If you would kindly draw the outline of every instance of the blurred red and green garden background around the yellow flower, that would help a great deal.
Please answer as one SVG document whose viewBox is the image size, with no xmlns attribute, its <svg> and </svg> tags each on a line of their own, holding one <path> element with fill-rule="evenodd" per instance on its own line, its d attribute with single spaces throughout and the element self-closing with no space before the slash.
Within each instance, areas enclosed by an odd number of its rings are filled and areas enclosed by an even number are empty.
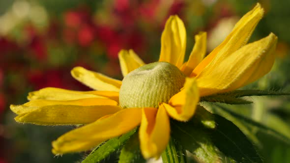
<svg viewBox="0 0 290 163">
<path fill-rule="evenodd" d="M 0 0 L 0 163 L 73 163 L 85 156 L 51 153 L 51 141 L 71 126 L 14 121 L 9 105 L 27 102 L 29 91 L 48 86 L 89 90 L 70 76 L 75 66 L 121 80 L 117 53 L 133 49 L 146 63 L 156 61 L 164 24 L 173 14 L 185 23 L 186 56 L 201 30 L 208 32 L 210 52 L 257 2 L 265 16 L 250 42 L 273 32 L 279 43 L 272 71 L 246 88 L 290 92 L 290 0 Z M 227 107 L 290 137 L 290 98 L 251 100 L 255 104 Z M 242 131 L 255 136 L 251 140 L 266 163 L 290 162 L 289 146 L 259 134 L 259 128 Z"/>
</svg>

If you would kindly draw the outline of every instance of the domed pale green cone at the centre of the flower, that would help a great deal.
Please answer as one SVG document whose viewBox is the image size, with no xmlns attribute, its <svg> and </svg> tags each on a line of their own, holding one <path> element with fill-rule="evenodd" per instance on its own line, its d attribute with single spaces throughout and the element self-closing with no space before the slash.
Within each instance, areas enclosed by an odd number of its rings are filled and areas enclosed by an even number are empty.
<svg viewBox="0 0 290 163">
<path fill-rule="evenodd" d="M 185 82 L 185 75 L 167 62 L 154 62 L 131 71 L 125 76 L 119 92 L 122 108 L 158 108 L 178 93 Z"/>
</svg>

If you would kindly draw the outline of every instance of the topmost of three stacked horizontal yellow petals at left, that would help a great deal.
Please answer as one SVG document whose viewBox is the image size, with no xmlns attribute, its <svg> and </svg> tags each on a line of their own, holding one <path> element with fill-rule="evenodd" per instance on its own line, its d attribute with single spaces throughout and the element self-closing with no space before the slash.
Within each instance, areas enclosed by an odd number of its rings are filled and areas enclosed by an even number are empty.
<svg viewBox="0 0 290 163">
<path fill-rule="evenodd" d="M 111 91 L 73 91 L 61 88 L 46 87 L 38 91 L 29 92 L 28 100 L 77 100 L 87 98 L 107 98 L 107 96 L 116 98 L 118 92 Z M 108 97 L 109 98 L 109 97 Z M 110 99 L 113 99 L 110 98 Z M 114 100 L 114 99 L 113 99 Z"/>
</svg>

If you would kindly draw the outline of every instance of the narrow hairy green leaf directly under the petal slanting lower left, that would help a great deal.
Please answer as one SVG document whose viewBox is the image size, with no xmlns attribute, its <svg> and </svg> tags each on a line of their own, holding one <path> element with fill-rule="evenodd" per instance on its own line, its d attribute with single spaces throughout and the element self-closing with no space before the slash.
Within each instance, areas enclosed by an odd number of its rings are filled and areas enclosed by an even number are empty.
<svg viewBox="0 0 290 163">
<path fill-rule="evenodd" d="M 111 153 L 119 149 L 134 133 L 136 129 L 115 138 L 111 138 L 103 145 L 96 147 L 82 163 L 99 163 Z"/>
</svg>

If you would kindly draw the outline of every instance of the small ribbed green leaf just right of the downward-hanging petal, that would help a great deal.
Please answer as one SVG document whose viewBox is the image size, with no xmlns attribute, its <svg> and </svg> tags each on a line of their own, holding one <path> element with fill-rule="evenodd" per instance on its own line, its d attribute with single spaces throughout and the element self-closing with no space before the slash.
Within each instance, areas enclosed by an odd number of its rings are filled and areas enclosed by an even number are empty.
<svg viewBox="0 0 290 163">
<path fill-rule="evenodd" d="M 182 146 L 173 138 L 170 139 L 161 157 L 163 163 L 185 163 Z"/>
</svg>

